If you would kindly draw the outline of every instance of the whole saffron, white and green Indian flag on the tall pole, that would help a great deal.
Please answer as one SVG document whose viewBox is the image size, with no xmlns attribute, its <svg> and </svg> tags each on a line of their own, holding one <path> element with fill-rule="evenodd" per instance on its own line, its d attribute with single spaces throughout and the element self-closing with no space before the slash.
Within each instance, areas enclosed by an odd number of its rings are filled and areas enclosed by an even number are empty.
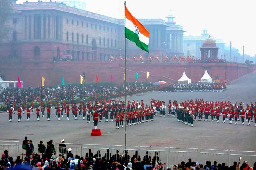
<svg viewBox="0 0 256 170">
<path fill-rule="evenodd" d="M 142 50 L 148 52 L 149 32 L 128 11 L 125 6 L 125 38 L 135 42 Z"/>
</svg>

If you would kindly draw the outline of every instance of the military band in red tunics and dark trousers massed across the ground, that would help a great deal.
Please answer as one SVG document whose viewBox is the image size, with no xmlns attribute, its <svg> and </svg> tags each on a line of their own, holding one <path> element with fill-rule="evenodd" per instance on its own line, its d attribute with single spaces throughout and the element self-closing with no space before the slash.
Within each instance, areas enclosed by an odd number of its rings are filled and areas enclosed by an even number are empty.
<svg viewBox="0 0 256 170">
<path fill-rule="evenodd" d="M 74 120 L 78 120 L 77 117 L 82 117 L 83 120 L 87 120 L 87 123 L 94 122 L 94 129 L 98 129 L 98 122 L 115 121 L 116 128 L 124 126 L 124 121 L 126 121 L 126 126 L 131 126 L 135 124 L 140 124 L 144 122 L 150 122 L 154 120 L 154 117 L 160 113 L 160 117 L 165 117 L 166 111 L 168 116 L 175 117 L 177 114 L 177 121 L 193 126 L 194 121 L 208 121 L 217 123 L 220 122 L 222 117 L 222 123 L 225 123 L 226 120 L 229 120 L 229 124 L 232 124 L 232 121 L 235 121 L 234 124 L 238 124 L 241 118 L 241 125 L 245 124 L 245 121 L 248 122 L 248 126 L 253 121 L 255 122 L 256 127 L 256 102 L 253 104 L 244 105 L 243 102 L 232 104 L 230 101 L 220 102 L 216 101 L 204 101 L 203 99 L 187 100 L 183 101 L 180 104 L 176 100 L 169 103 L 166 107 L 164 101 L 152 99 L 149 105 L 144 105 L 143 100 L 140 102 L 133 100 L 127 102 L 127 116 L 125 118 L 125 103 L 120 100 L 102 100 L 94 102 L 82 102 L 77 105 L 71 102 L 71 105 L 64 102 L 60 104 L 57 101 L 56 106 L 52 106 L 49 101 L 48 106 L 46 107 L 43 102 L 41 102 L 39 107 L 35 108 L 36 120 L 39 121 L 40 113 L 42 117 L 45 116 L 45 111 L 47 115 L 47 120 L 51 120 L 52 109 L 55 109 L 55 117 L 58 120 L 61 120 L 64 115 L 67 120 L 70 120 L 70 114 L 73 116 Z M 10 108 L 7 112 L 9 114 L 9 122 L 12 122 L 12 115 L 15 114 L 15 106 Z M 21 108 L 18 108 L 18 122 L 21 122 L 22 114 L 27 115 L 27 121 L 30 121 L 30 114 L 33 114 L 34 104 L 31 101 L 30 108 L 25 108 L 25 103 Z"/>
</svg>

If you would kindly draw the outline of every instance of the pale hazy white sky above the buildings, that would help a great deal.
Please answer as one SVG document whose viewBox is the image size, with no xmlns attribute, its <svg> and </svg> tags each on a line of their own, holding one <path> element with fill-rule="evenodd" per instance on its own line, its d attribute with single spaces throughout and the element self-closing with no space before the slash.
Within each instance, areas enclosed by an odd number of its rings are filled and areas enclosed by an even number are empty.
<svg viewBox="0 0 256 170">
<path fill-rule="evenodd" d="M 17 3 L 25 1 L 18 0 Z M 109 17 L 124 17 L 124 1 L 85 1 L 88 11 Z M 254 13 L 256 1 L 254 0 L 127 0 L 126 6 L 136 18 L 166 19 L 171 10 L 176 17 L 174 19 L 176 24 L 182 25 L 187 31 L 184 35 L 200 35 L 202 29 L 207 28 L 210 35 L 223 39 L 226 44 L 232 41 L 232 46 L 238 48 L 241 54 L 243 45 L 246 54 L 251 56 L 256 54 Z"/>
</svg>

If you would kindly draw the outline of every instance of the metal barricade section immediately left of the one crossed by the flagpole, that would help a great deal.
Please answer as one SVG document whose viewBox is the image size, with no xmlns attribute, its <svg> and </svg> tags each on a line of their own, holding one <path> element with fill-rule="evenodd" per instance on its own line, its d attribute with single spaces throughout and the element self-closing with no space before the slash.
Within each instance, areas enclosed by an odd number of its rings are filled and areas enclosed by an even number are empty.
<svg viewBox="0 0 256 170">
<path fill-rule="evenodd" d="M 111 157 L 110 145 L 83 144 L 83 157 L 86 160 L 105 157 L 108 161 Z"/>
</svg>

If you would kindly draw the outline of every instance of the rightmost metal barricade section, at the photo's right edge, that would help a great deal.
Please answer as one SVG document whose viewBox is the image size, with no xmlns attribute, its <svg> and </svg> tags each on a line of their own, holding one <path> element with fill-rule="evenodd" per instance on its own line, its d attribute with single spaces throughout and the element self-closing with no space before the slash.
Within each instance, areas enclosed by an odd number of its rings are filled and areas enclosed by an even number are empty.
<svg viewBox="0 0 256 170">
<path fill-rule="evenodd" d="M 234 161 L 238 162 L 239 157 L 242 157 L 242 161 L 247 161 L 250 167 L 256 162 L 255 151 L 229 151 L 229 155 L 229 165 L 233 165 Z"/>
</svg>

